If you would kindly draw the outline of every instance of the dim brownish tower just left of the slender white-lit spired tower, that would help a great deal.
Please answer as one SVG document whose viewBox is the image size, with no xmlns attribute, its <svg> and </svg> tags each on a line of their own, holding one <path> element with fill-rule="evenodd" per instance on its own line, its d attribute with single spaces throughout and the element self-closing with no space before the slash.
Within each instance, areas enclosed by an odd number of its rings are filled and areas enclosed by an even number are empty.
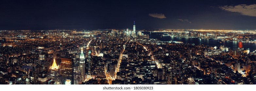
<svg viewBox="0 0 256 91">
<path fill-rule="evenodd" d="M 80 70 L 80 66 L 79 65 L 74 65 L 74 85 L 80 85 L 83 82 L 83 78 L 82 78 L 82 74 L 81 74 L 81 70 Z"/>
</svg>

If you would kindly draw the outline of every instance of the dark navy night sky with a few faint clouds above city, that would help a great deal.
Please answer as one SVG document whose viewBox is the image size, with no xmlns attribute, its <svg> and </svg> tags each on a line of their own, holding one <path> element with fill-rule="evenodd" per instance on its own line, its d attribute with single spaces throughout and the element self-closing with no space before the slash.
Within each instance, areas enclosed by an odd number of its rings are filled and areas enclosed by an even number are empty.
<svg viewBox="0 0 256 91">
<path fill-rule="evenodd" d="M 0 30 L 256 29 L 256 0 L 1 0 Z"/>
</svg>

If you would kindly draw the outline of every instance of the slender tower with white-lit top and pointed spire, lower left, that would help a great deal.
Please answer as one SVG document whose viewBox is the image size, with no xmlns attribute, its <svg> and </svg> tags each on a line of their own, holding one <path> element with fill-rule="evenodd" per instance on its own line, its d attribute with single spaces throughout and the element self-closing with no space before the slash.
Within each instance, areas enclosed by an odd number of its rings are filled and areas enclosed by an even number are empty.
<svg viewBox="0 0 256 91">
<path fill-rule="evenodd" d="M 81 48 L 81 54 L 79 57 L 79 69 L 81 70 L 82 78 L 83 81 L 85 80 L 85 60 L 84 60 L 84 53 L 83 53 L 83 48 Z"/>
</svg>

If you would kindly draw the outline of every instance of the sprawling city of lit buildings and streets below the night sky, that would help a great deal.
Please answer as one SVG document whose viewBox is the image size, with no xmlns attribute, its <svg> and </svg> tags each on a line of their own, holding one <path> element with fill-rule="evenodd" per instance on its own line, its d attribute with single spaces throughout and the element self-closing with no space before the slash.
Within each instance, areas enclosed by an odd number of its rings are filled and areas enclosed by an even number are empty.
<svg viewBox="0 0 256 91">
<path fill-rule="evenodd" d="M 1 84 L 256 83 L 254 31 L 135 31 L 0 31 Z"/>
</svg>

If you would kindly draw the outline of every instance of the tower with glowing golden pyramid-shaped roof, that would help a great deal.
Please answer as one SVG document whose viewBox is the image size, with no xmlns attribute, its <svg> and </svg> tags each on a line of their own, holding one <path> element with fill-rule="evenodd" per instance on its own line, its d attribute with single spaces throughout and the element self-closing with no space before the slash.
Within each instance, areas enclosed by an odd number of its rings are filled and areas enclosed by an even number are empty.
<svg viewBox="0 0 256 91">
<path fill-rule="evenodd" d="M 52 79 L 56 82 L 57 85 L 60 85 L 62 82 L 62 76 L 60 74 L 60 68 L 57 66 L 55 59 L 53 59 L 52 66 L 49 69 L 49 73 L 47 75 L 47 78 Z"/>
</svg>

